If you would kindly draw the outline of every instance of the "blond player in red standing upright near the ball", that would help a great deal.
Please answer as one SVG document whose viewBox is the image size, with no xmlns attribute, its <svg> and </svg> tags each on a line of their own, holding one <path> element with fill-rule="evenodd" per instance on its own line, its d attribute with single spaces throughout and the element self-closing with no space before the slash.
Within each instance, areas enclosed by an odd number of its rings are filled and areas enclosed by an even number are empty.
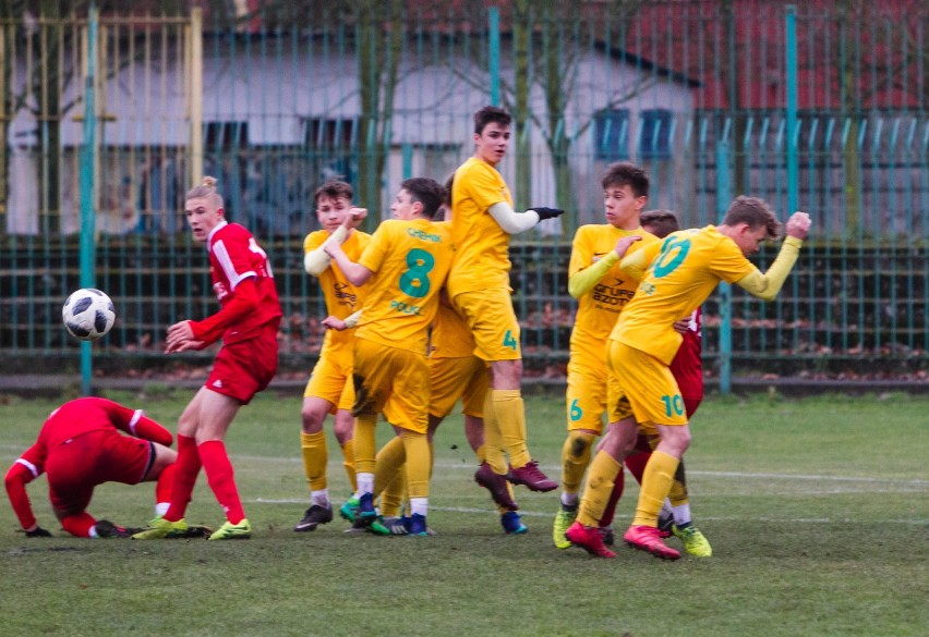
<svg viewBox="0 0 929 637">
<path fill-rule="evenodd" d="M 220 310 L 202 320 L 184 320 L 168 328 L 166 354 L 202 350 L 222 339 L 222 348 L 204 387 L 178 421 L 178 471 L 171 506 L 149 528 L 133 536 L 147 540 L 185 534 L 184 513 L 201 467 L 227 522 L 210 540 L 249 538 L 232 464 L 226 453 L 226 431 L 252 397 L 277 372 L 277 329 L 280 302 L 265 252 L 238 223 L 229 223 L 216 180 L 190 191 L 184 206 L 194 240 L 209 249 L 209 274 Z"/>
</svg>

